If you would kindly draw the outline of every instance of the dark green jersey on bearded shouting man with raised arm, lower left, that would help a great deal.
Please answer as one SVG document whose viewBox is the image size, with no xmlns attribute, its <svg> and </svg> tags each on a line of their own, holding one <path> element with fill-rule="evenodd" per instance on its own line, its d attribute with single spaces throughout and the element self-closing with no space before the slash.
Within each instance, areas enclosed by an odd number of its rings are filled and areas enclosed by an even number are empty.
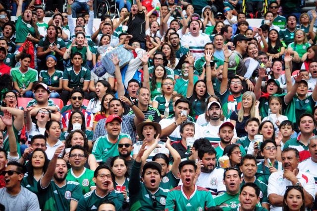
<svg viewBox="0 0 317 211">
<path fill-rule="evenodd" d="M 41 180 L 40 180 L 41 181 Z M 40 208 L 43 211 L 69 211 L 70 201 L 83 196 L 78 182 L 67 181 L 61 188 L 52 180 L 48 187 L 44 188 L 38 183 Z"/>
</svg>

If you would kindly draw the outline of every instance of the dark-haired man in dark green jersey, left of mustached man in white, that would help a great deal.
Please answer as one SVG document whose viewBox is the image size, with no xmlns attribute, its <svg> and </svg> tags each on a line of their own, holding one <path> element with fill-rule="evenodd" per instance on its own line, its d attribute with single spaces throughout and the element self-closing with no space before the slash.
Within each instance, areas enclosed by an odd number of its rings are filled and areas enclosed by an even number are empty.
<svg viewBox="0 0 317 211">
<path fill-rule="evenodd" d="M 243 185 L 246 183 L 256 184 L 260 188 L 260 203 L 262 207 L 269 210 L 269 203 L 267 200 L 267 185 L 261 180 L 257 179 L 257 177 L 255 176 L 257 173 L 257 169 L 257 160 L 253 155 L 246 154 L 244 157 L 242 157 L 240 171 L 242 172 L 243 176 L 242 183 L 240 186 L 243 187 Z"/>
</svg>

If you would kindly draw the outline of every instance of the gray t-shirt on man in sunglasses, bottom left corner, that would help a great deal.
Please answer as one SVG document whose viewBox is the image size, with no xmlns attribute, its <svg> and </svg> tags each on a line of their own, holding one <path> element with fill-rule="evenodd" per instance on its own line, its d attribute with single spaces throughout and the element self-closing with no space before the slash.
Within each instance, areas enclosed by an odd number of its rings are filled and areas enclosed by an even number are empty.
<svg viewBox="0 0 317 211">
<path fill-rule="evenodd" d="M 6 192 L 6 188 L 0 189 L 0 203 L 5 211 L 39 211 L 40 205 L 37 196 L 21 186 L 18 195 L 12 196 Z"/>
</svg>

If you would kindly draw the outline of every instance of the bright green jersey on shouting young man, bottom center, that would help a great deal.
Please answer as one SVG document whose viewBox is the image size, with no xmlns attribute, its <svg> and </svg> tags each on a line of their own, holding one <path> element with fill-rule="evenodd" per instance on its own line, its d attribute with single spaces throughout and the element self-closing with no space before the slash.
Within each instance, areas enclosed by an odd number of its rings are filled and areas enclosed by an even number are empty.
<svg viewBox="0 0 317 211">
<path fill-rule="evenodd" d="M 168 192 L 165 211 L 204 211 L 214 205 L 207 189 L 195 185 L 192 195 L 187 196 L 179 185 Z"/>
</svg>

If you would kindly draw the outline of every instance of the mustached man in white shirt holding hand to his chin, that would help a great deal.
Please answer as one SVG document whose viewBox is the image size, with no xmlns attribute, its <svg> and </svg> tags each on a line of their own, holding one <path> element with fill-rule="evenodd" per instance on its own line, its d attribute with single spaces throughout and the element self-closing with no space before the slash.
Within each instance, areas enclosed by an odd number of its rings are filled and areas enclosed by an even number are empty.
<svg viewBox="0 0 317 211">
<path fill-rule="evenodd" d="M 268 178 L 267 199 L 270 211 L 282 211 L 284 194 L 287 186 L 300 186 L 304 191 L 305 207 L 311 208 L 315 200 L 315 180 L 298 169 L 299 152 L 295 148 L 282 151 L 282 171 L 273 172 Z"/>
</svg>

